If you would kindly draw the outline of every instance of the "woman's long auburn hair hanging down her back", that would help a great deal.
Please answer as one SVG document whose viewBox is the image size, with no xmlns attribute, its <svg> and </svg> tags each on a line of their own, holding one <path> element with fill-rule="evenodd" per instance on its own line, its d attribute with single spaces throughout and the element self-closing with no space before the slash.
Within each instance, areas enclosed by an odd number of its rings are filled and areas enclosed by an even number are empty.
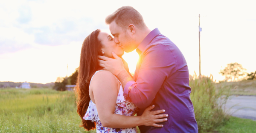
<svg viewBox="0 0 256 133">
<path fill-rule="evenodd" d="M 84 39 L 81 48 L 81 57 L 79 65 L 79 74 L 77 77 L 75 92 L 76 92 L 76 104 L 77 113 L 82 119 L 82 125 L 87 130 L 95 129 L 96 124 L 90 120 L 83 119 L 90 102 L 89 85 L 93 74 L 101 69 L 99 66 L 98 55 L 102 55 L 101 47 L 102 43 L 98 39 L 100 30 L 97 29 L 90 33 Z"/>
</svg>

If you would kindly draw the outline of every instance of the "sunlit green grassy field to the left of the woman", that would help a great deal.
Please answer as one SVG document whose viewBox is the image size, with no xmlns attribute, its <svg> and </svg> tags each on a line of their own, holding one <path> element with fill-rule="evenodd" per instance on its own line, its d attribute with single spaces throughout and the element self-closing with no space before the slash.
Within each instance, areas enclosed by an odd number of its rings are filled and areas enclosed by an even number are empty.
<svg viewBox="0 0 256 133">
<path fill-rule="evenodd" d="M 73 92 L 0 89 L 0 133 L 94 133 L 80 122 Z"/>
</svg>

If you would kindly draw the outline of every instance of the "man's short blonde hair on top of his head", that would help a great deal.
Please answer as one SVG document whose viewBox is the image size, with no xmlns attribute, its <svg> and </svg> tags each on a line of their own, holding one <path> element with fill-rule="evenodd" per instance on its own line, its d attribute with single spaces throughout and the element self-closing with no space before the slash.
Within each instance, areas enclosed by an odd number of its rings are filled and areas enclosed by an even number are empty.
<svg viewBox="0 0 256 133">
<path fill-rule="evenodd" d="M 122 28 L 126 28 L 130 24 L 136 25 L 138 28 L 146 26 L 141 14 L 131 6 L 122 6 L 117 9 L 113 14 L 106 17 L 105 22 L 109 25 L 114 20 Z"/>
</svg>

